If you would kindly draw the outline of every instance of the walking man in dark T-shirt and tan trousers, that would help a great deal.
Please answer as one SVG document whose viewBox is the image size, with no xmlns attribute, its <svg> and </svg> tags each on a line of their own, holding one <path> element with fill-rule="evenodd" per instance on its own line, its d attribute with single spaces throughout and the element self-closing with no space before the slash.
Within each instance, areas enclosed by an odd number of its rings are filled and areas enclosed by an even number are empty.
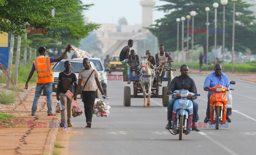
<svg viewBox="0 0 256 155">
<path fill-rule="evenodd" d="M 57 100 L 60 100 L 60 103 L 65 107 L 64 110 L 61 111 L 61 123 L 60 127 L 65 126 L 66 123 L 66 111 L 67 111 L 67 122 L 68 127 L 72 127 L 71 124 L 71 104 L 72 100 L 67 97 L 66 93 L 70 91 L 73 92 L 73 84 L 76 90 L 77 86 L 77 78 L 74 72 L 70 70 L 71 63 L 69 61 L 64 62 L 65 70 L 60 72 L 59 78 L 58 78 L 58 86 L 56 91 Z M 67 109 L 67 110 L 66 110 Z"/>
</svg>

